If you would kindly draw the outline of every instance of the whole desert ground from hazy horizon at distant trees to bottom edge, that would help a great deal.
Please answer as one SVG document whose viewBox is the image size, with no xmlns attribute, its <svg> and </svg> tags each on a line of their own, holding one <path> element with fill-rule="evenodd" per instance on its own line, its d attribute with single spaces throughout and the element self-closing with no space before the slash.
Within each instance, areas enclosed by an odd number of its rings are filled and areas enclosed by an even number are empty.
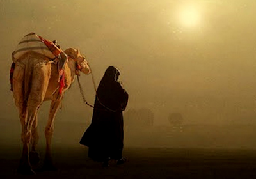
<svg viewBox="0 0 256 179">
<path fill-rule="evenodd" d="M 111 161 L 109 168 L 103 168 L 78 143 L 86 126 L 57 122 L 52 155 L 58 170 L 24 176 L 16 171 L 21 155 L 19 123 L 1 121 L 1 178 L 256 178 L 253 126 L 126 128 L 127 162 L 116 166 Z M 44 159 L 43 127 L 39 129 L 38 152 Z"/>
</svg>

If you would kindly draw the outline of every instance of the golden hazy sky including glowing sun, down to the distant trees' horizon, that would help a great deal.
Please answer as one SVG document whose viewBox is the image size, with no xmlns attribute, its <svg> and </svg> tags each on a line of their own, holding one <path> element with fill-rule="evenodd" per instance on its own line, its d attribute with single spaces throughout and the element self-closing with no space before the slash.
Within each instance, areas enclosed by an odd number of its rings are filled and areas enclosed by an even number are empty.
<svg viewBox="0 0 256 179">
<path fill-rule="evenodd" d="M 33 31 L 63 49 L 79 47 L 97 83 L 109 65 L 120 68 L 127 109 L 152 109 L 156 124 L 169 113 L 187 123 L 256 121 L 255 0 L 1 0 L 0 26 L 2 118 L 18 118 L 11 54 Z M 81 80 L 93 102 L 90 75 Z M 84 121 L 91 112 L 75 82 L 58 117 Z"/>
</svg>

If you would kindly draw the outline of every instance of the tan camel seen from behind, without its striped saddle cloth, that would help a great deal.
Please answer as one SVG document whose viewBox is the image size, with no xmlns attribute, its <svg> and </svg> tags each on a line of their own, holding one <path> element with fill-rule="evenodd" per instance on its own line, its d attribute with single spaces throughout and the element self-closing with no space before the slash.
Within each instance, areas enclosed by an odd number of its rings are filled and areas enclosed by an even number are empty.
<svg viewBox="0 0 256 179">
<path fill-rule="evenodd" d="M 54 118 L 60 106 L 63 94 L 74 82 L 77 68 L 84 74 L 90 74 L 90 66 L 79 49 L 68 48 L 65 51 L 67 61 L 63 65 L 65 85 L 62 92 L 60 88 L 60 74 L 58 63 L 35 51 L 27 51 L 15 60 L 13 71 L 13 98 L 19 110 L 22 125 L 22 156 L 18 172 L 31 175 L 35 174 L 33 166 L 39 163 L 36 152 L 38 143 L 38 110 L 44 101 L 51 100 L 49 118 L 45 127 L 46 152 L 43 169 L 56 169 L 52 164 L 51 141 L 54 132 Z M 64 53 L 63 53 L 64 54 Z"/>
</svg>

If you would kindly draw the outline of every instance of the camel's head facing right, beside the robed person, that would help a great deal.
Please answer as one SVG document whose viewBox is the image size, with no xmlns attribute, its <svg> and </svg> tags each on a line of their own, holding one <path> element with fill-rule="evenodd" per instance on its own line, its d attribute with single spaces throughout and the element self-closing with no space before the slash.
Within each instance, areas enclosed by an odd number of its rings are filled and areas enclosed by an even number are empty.
<svg viewBox="0 0 256 179">
<path fill-rule="evenodd" d="M 68 48 L 65 51 L 65 54 L 67 54 L 68 59 L 74 60 L 77 64 L 78 69 L 84 74 L 90 74 L 90 66 L 88 65 L 88 62 L 86 61 L 85 56 L 80 54 L 79 49 L 74 48 Z"/>
</svg>

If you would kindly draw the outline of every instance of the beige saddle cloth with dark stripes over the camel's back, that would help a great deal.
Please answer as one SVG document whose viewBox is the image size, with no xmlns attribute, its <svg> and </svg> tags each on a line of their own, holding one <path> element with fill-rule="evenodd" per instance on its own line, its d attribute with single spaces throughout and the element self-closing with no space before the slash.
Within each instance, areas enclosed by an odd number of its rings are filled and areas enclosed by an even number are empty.
<svg viewBox="0 0 256 179">
<path fill-rule="evenodd" d="M 46 40 L 35 33 L 29 33 L 20 40 L 17 48 L 13 51 L 13 62 L 15 63 L 17 59 L 28 51 L 44 54 L 50 59 L 55 59 L 61 53 L 61 49 L 54 42 Z"/>
</svg>

